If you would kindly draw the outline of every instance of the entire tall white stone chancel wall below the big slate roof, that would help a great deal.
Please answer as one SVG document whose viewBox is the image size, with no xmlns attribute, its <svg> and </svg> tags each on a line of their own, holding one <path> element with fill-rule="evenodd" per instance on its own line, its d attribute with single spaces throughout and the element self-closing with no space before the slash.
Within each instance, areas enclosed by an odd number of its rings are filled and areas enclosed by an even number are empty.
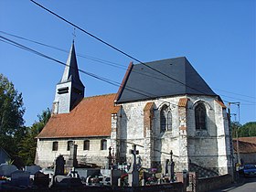
<svg viewBox="0 0 256 192">
<path fill-rule="evenodd" d="M 178 101 L 184 97 L 188 99 L 185 110 L 187 113 L 181 117 Z M 222 109 L 215 100 L 217 97 L 210 96 L 180 96 L 155 100 L 152 156 L 146 145 L 148 138 L 144 138 L 144 106 L 151 101 L 123 103 L 120 133 L 121 138 L 127 140 L 127 144 L 124 144 L 127 161 L 131 160 L 129 149 L 132 144 L 137 144 L 144 167 L 148 167 L 149 158 L 165 165 L 165 159 L 170 158 L 169 154 L 172 150 L 176 171 L 188 169 L 188 161 L 191 160 L 192 163 L 217 171 L 219 174 L 226 174 L 229 166 L 229 126 L 225 109 Z M 206 106 L 208 116 L 206 131 L 196 130 L 194 110 L 198 101 Z M 160 133 L 160 111 L 164 104 L 168 105 L 172 112 L 172 129 Z M 185 127 L 184 130 L 180 129 L 182 126 Z"/>
</svg>

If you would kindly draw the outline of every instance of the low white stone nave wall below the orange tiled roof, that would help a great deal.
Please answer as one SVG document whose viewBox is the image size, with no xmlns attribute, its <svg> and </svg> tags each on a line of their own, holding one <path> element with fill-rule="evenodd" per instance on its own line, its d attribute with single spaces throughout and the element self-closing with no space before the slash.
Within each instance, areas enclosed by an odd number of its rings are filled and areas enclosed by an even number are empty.
<svg viewBox="0 0 256 192">
<path fill-rule="evenodd" d="M 101 150 L 101 139 L 107 140 L 107 150 Z M 90 150 L 83 150 L 84 140 L 90 140 Z M 69 151 L 67 150 L 68 141 L 73 141 L 78 145 L 79 163 L 90 163 L 100 166 L 106 164 L 109 155 L 108 148 L 112 145 L 110 138 L 67 138 L 67 139 L 37 139 L 37 155 L 35 163 L 42 167 L 53 165 L 57 156 L 63 155 L 65 160 L 68 159 Z M 58 151 L 52 151 L 53 142 L 59 142 Z"/>
</svg>

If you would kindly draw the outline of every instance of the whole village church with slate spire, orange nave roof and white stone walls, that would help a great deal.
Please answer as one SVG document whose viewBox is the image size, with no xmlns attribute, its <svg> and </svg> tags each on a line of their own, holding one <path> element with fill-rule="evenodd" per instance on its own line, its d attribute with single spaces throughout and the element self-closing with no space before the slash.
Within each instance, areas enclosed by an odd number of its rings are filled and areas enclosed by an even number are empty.
<svg viewBox="0 0 256 192">
<path fill-rule="evenodd" d="M 84 97 L 74 43 L 56 86 L 52 116 L 37 135 L 35 164 L 53 165 L 77 144 L 79 164 L 131 162 L 136 144 L 145 168 L 165 169 L 170 152 L 175 171 L 232 172 L 226 106 L 187 58 L 130 63 L 117 93 Z"/>
</svg>

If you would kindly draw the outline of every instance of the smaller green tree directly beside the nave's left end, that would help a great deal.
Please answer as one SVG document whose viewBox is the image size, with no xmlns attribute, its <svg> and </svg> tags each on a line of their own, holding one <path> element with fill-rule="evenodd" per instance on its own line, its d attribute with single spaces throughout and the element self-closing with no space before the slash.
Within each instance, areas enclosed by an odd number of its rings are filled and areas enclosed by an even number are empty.
<svg viewBox="0 0 256 192">
<path fill-rule="evenodd" d="M 25 165 L 33 165 L 35 161 L 36 149 L 37 149 L 37 134 L 42 131 L 48 119 L 50 118 L 51 112 L 49 109 L 43 111 L 42 114 L 37 115 L 38 122 L 34 123 L 31 128 L 27 130 L 27 135 L 18 144 L 19 153 L 18 155 L 22 158 Z"/>
</svg>

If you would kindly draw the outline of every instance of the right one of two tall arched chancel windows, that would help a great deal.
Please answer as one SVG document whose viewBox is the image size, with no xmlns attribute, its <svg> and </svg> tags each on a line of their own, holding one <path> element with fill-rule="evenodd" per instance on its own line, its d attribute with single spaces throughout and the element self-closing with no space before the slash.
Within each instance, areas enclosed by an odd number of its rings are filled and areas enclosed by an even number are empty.
<svg viewBox="0 0 256 192">
<path fill-rule="evenodd" d="M 198 103 L 195 108 L 196 129 L 207 129 L 207 111 L 203 103 Z"/>
</svg>

